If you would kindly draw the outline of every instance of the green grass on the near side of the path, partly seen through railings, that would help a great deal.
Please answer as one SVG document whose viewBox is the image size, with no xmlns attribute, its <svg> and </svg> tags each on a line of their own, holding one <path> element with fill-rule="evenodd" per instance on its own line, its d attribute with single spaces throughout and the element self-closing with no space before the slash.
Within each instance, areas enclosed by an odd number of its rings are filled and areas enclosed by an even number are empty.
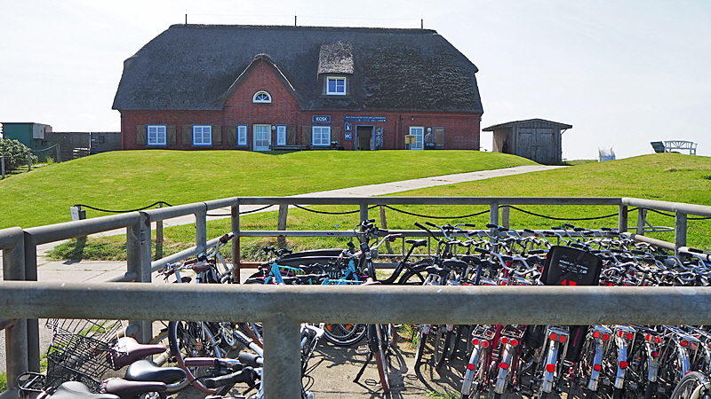
<svg viewBox="0 0 711 399">
<path fill-rule="evenodd" d="M 635 197 L 650 200 L 667 200 L 699 205 L 711 205 L 711 158 L 683 154 L 651 154 L 624 160 L 583 163 L 570 168 L 561 168 L 543 172 L 531 172 L 525 175 L 505 176 L 469 183 L 421 189 L 411 192 L 399 192 L 393 196 L 480 196 L 480 197 Z M 310 207 L 329 212 L 354 211 L 355 207 L 319 206 Z M 414 222 L 423 223 L 475 223 L 484 227 L 489 215 L 455 218 L 457 215 L 470 215 L 488 210 L 488 206 L 479 207 L 435 207 L 403 206 L 401 210 L 419 215 L 445 217 L 427 219 L 405 215 L 387 210 L 387 227 L 393 230 L 412 230 Z M 565 207 L 565 206 L 522 206 L 524 211 L 555 217 L 550 219 L 528 215 L 511 210 L 511 227 L 516 229 L 550 229 L 554 225 L 572 223 L 586 228 L 617 227 L 617 207 Z M 591 217 L 611 215 L 596 220 L 581 220 Z M 371 211 L 371 217 L 379 219 L 377 209 Z M 560 219 L 560 220 L 558 220 Z M 650 213 L 648 219 L 656 226 L 674 226 L 674 217 Z M 634 224 L 636 214 L 630 213 L 629 221 Z M 322 215 L 306 210 L 292 209 L 287 220 L 290 230 L 346 230 L 358 223 L 358 214 Z M 378 220 L 378 223 L 381 222 Z M 244 230 L 276 230 L 276 212 L 244 215 L 241 217 Z M 208 223 L 208 237 L 218 237 L 229 231 L 229 221 L 220 220 Z M 673 233 L 661 232 L 649 234 L 651 237 L 673 241 Z M 165 231 L 166 254 L 191 246 L 195 239 L 193 226 L 178 226 Z M 124 238 L 102 239 L 121 245 Z M 189 245 L 188 245 L 189 243 Z M 711 250 L 711 221 L 689 220 L 688 243 L 702 249 Z M 243 239 L 243 254 L 249 258 L 259 258 L 259 249 L 264 245 L 274 245 L 274 239 Z M 296 249 L 327 246 L 345 246 L 345 239 L 290 239 L 290 245 Z M 122 251 L 116 251 L 121 256 Z"/>
</svg>

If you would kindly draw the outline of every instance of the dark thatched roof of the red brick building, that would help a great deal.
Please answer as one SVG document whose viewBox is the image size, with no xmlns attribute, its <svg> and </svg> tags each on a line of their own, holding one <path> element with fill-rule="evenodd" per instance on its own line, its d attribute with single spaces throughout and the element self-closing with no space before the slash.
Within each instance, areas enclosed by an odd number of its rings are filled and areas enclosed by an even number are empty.
<svg viewBox="0 0 711 399">
<path fill-rule="evenodd" d="M 124 61 L 113 109 L 221 110 L 258 55 L 304 111 L 483 113 L 476 66 L 435 30 L 245 25 L 168 28 Z M 349 63 L 349 95 L 324 96 L 319 68 Z"/>
</svg>

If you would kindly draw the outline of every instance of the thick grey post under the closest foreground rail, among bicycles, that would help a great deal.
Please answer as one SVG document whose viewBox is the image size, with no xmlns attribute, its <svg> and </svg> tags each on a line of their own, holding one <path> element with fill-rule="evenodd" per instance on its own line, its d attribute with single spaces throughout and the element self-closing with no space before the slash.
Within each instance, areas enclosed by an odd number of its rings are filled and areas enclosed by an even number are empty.
<svg viewBox="0 0 711 399">
<path fill-rule="evenodd" d="M 300 323 L 284 313 L 264 321 L 264 396 L 301 397 Z"/>
</svg>

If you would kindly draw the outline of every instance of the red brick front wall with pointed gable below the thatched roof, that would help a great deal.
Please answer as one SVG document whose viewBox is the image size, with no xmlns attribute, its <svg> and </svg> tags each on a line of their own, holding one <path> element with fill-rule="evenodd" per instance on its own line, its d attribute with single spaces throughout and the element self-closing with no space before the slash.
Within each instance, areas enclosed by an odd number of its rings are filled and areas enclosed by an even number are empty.
<svg viewBox="0 0 711 399">
<path fill-rule="evenodd" d="M 270 104 L 255 104 L 255 93 L 267 91 L 272 98 Z M 313 123 L 314 115 L 328 115 L 330 123 Z M 385 121 L 353 121 L 351 139 L 346 139 L 346 116 L 380 117 Z M 332 127 L 332 141 L 338 141 L 346 150 L 355 150 L 357 146 L 356 129 L 358 126 L 371 127 L 383 131 L 383 147 L 387 150 L 406 149 L 404 136 L 411 126 L 444 129 L 444 149 L 478 150 L 480 133 L 480 114 L 468 113 L 410 113 L 410 112 L 301 112 L 299 103 L 293 97 L 291 89 L 273 66 L 264 60 L 258 60 L 241 78 L 235 91 L 227 99 L 222 111 L 121 111 L 122 148 L 124 150 L 146 148 L 170 148 L 176 150 L 226 150 L 252 149 L 252 125 L 287 125 L 295 130 L 296 144 L 310 145 L 308 132 L 312 125 Z M 175 145 L 148 146 L 137 143 L 137 127 L 147 124 L 174 126 L 178 135 Z M 212 124 L 221 126 L 220 145 L 195 146 L 185 145 L 180 140 L 184 125 Z M 228 129 L 236 125 L 248 125 L 246 146 L 236 145 Z M 304 130 L 306 128 L 306 130 Z M 305 134 L 303 134 L 305 133 Z M 272 131 L 272 144 L 276 144 L 275 132 Z"/>
</svg>

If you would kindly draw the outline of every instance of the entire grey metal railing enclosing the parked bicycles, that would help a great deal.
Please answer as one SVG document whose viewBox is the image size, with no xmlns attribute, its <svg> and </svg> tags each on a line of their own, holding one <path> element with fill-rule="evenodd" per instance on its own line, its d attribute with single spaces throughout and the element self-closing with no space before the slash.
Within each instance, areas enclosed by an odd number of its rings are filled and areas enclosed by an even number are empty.
<svg viewBox="0 0 711 399">
<path fill-rule="evenodd" d="M 590 287 L 286 287 L 136 285 L 112 283 L 75 285 L 36 282 L 36 249 L 44 243 L 84 237 L 101 231 L 126 229 L 126 272 L 120 282 L 149 282 L 152 271 L 203 252 L 217 239 L 207 240 L 207 212 L 229 207 L 235 233 L 233 260 L 239 263 L 241 237 L 278 235 L 334 235 L 342 231 L 242 231 L 240 207 L 248 205 L 354 205 L 360 219 L 368 219 L 372 205 L 486 205 L 490 222 L 499 224 L 505 205 L 605 205 L 618 207 L 619 231 L 627 231 L 628 207 L 674 212 L 675 242 L 655 244 L 679 250 L 686 246 L 687 215 L 711 217 L 711 207 L 631 198 L 231 198 L 178 207 L 164 207 L 124 215 L 103 216 L 22 230 L 0 230 L 4 279 L 0 290 L 0 319 L 17 319 L 6 329 L 7 376 L 13 388 L 21 372 L 38 371 L 37 317 L 106 317 L 132 320 L 244 320 L 265 325 L 265 393 L 270 398 L 298 397 L 300 389 L 299 325 L 328 323 L 446 323 L 446 324 L 562 324 L 598 323 L 711 324 L 711 293 L 704 288 Z M 281 207 L 284 208 L 284 207 Z M 196 245 L 179 254 L 151 262 L 151 223 L 193 215 Z M 637 229 L 644 227 L 638 218 Z M 352 234 L 352 232 L 350 232 Z M 27 280 L 9 281 L 9 280 Z M 33 282 L 35 281 L 35 282 Z M 411 288 L 411 287 L 408 287 Z M 334 290 L 339 291 L 334 295 Z M 37 295 L 41 292 L 41 295 Z M 653 301 L 650 299 L 653 297 Z M 146 303 L 160 303 L 147 307 Z M 288 314 L 284 303 L 289 303 Z M 358 307 L 352 306 L 358 303 Z M 387 303 L 388 306 L 381 306 Z M 545 303 L 531 309 L 531 303 Z M 120 304 L 120 305 L 116 305 Z M 624 304 L 624 306 L 620 306 Z M 413 310 L 417 309 L 417 310 Z M 151 322 L 140 326 L 137 338 L 151 338 Z M 10 395 L 10 394 L 9 394 Z"/>
</svg>

